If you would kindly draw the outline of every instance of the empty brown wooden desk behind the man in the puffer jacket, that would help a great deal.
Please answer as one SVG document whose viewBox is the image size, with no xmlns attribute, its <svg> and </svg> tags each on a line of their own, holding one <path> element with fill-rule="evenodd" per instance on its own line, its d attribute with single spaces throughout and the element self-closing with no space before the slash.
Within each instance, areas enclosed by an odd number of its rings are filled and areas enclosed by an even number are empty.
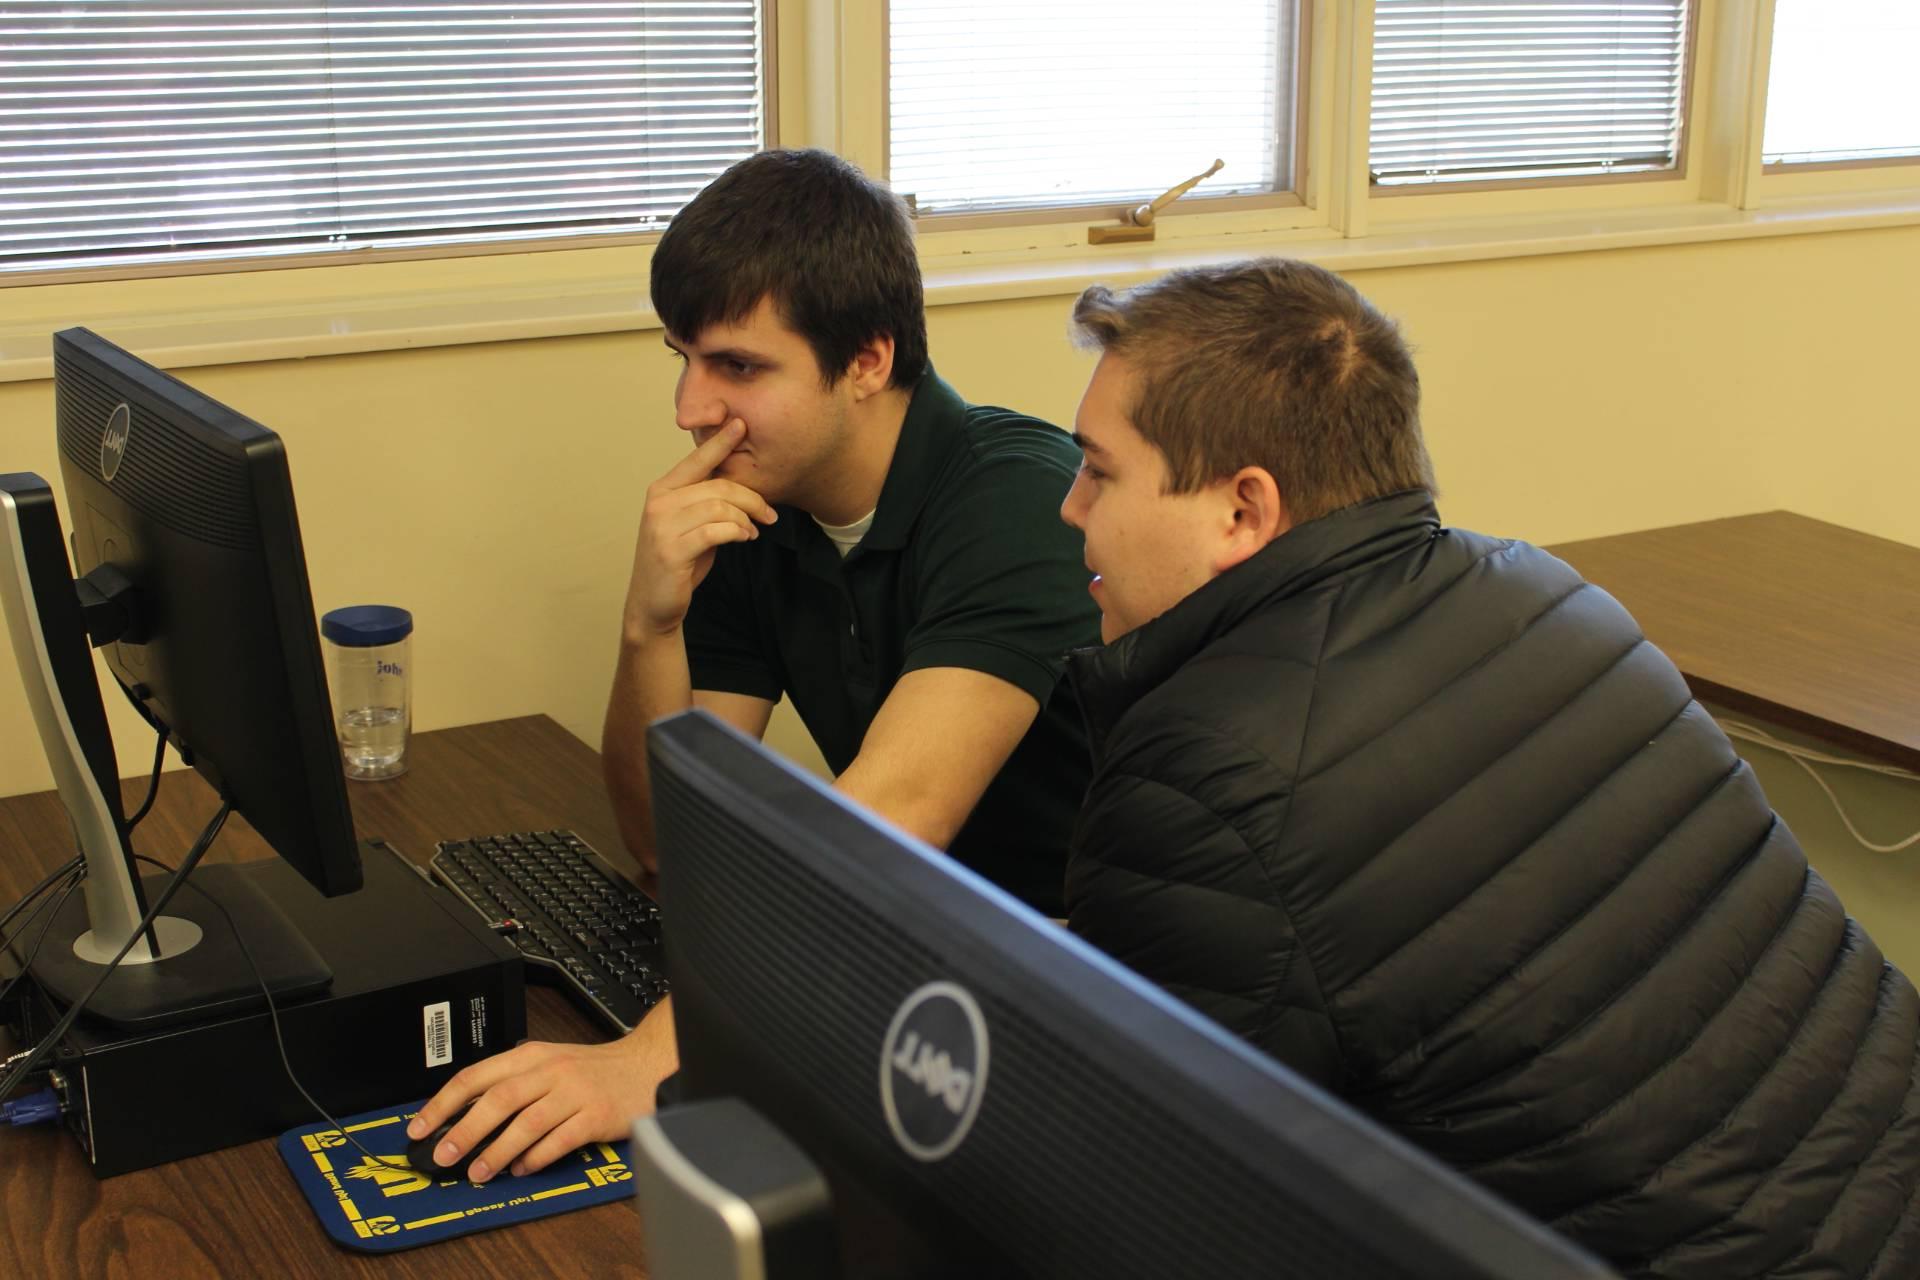
<svg viewBox="0 0 1920 1280">
<path fill-rule="evenodd" d="M 1695 697 L 1920 770 L 1920 549 L 1770 510 L 1548 551 Z"/>
</svg>

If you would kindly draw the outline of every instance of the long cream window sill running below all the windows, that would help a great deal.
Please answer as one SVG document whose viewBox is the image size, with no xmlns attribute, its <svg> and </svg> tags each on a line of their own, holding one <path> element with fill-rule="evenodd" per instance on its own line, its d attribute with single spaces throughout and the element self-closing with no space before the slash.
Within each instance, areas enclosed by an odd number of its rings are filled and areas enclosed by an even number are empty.
<svg viewBox="0 0 1920 1280">
<path fill-rule="evenodd" d="M 1331 271 L 1357 273 L 1910 225 L 1920 225 L 1916 188 L 1797 196 L 1753 211 L 1690 203 L 1586 215 L 1450 217 L 1379 226 L 1379 234 L 1361 240 L 1344 240 L 1327 228 L 1183 236 L 1177 219 L 1167 219 L 1162 225 L 1165 238 L 1156 244 L 948 251 L 927 257 L 924 269 L 927 305 L 943 307 L 1073 296 L 1092 282 L 1137 284 L 1177 267 L 1258 253 L 1286 253 Z M 0 290 L 0 303 L 13 303 L 6 307 L 12 315 L 0 320 L 0 382 L 50 378 L 50 334 L 67 324 L 100 328 L 167 368 L 657 328 L 643 263 L 634 249 L 589 253 L 620 257 L 605 259 L 611 267 L 605 271 L 582 271 L 580 263 L 591 259 L 572 259 L 564 271 L 543 278 L 549 273 L 541 271 L 541 259 L 561 255 L 516 255 L 522 269 L 511 282 L 449 278 L 444 269 L 438 282 L 426 284 L 394 273 L 384 276 L 384 292 L 378 273 L 388 265 L 380 263 L 317 269 L 323 276 L 300 273 L 301 280 L 326 280 L 311 288 L 296 282 L 294 273 L 286 273 L 284 282 L 273 280 L 278 273 L 204 276 L 204 286 L 196 286 L 194 301 L 184 307 L 179 303 L 179 280 L 165 282 L 175 286 L 173 294 L 159 292 L 156 286 L 161 282 L 152 280 L 17 286 Z M 253 284 L 246 290 L 221 284 L 240 278 Z M 609 278 L 620 282 L 609 286 Z M 399 282 L 405 284 L 396 288 Z M 83 296 L 65 294 L 88 290 L 98 297 L 102 288 L 113 290 L 113 301 L 98 315 L 81 301 Z"/>
</svg>

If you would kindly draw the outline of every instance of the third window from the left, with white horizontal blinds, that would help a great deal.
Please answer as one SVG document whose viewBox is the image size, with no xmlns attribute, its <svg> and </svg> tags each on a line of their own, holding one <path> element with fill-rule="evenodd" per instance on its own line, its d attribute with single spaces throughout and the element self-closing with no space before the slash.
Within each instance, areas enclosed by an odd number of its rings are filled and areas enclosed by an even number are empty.
<svg viewBox="0 0 1920 1280">
<path fill-rule="evenodd" d="M 1379 0 L 1371 180 L 1674 169 L 1688 0 Z"/>
</svg>

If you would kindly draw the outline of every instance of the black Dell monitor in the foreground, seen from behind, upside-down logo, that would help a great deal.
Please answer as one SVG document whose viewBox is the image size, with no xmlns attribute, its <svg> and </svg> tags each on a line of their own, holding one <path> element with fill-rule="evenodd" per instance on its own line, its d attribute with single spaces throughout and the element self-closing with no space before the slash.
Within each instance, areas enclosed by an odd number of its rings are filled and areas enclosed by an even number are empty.
<svg viewBox="0 0 1920 1280">
<path fill-rule="evenodd" d="M 718 720 L 647 754 L 684 1092 L 820 1165 L 847 1274 L 1611 1274 Z"/>
</svg>

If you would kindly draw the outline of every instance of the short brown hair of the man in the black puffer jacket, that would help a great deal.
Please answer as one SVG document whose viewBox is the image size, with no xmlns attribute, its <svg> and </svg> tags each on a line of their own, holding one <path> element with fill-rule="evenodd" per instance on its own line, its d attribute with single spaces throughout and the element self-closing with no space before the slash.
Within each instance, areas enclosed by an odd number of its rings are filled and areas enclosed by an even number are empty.
<svg viewBox="0 0 1920 1280">
<path fill-rule="evenodd" d="M 1413 355 L 1331 271 L 1263 257 L 1121 294 L 1094 284 L 1073 326 L 1139 370 L 1127 416 L 1167 459 L 1171 493 L 1263 466 L 1300 524 L 1434 489 Z"/>
</svg>

